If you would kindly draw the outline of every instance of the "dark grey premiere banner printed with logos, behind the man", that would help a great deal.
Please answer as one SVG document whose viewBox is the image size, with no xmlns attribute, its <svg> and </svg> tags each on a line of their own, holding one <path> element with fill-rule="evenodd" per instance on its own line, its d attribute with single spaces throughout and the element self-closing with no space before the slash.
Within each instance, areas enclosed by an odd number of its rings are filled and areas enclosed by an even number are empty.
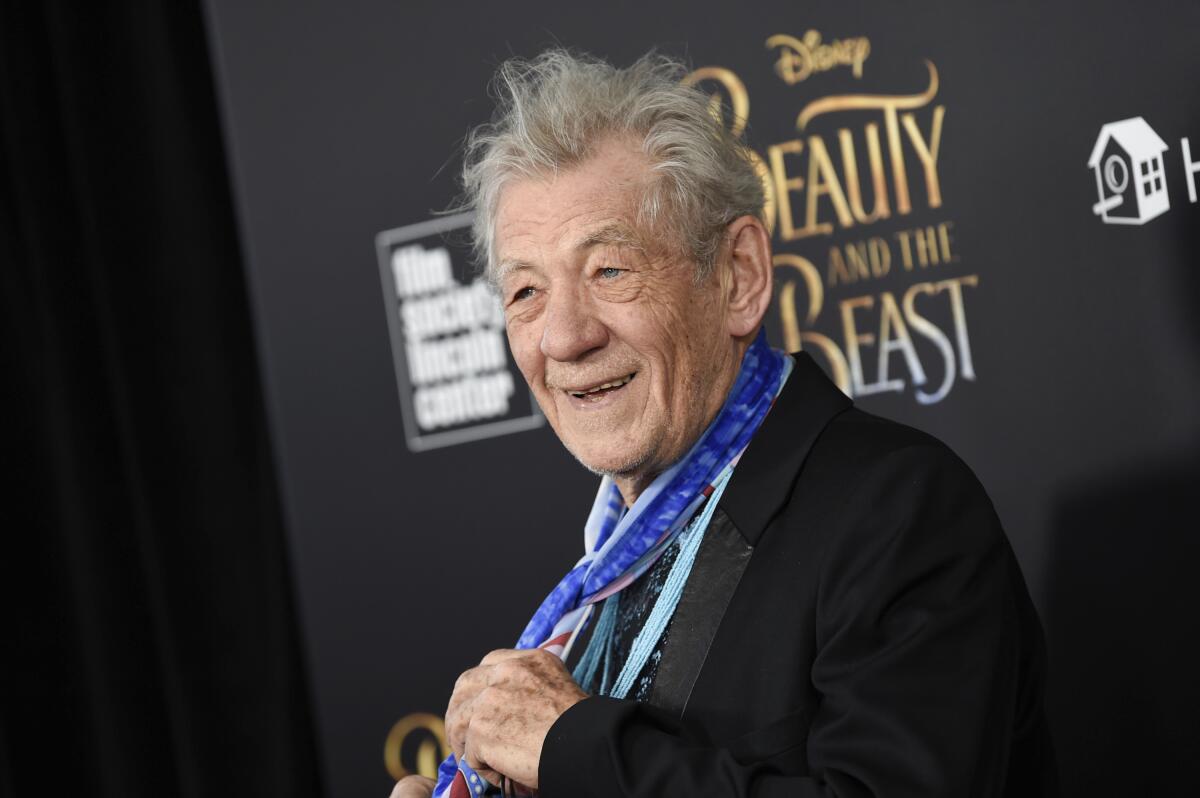
<svg viewBox="0 0 1200 798">
<path fill-rule="evenodd" d="M 1200 6 L 210 0 L 328 792 L 445 752 L 457 674 L 581 553 L 595 490 L 454 205 L 504 58 L 650 48 L 743 132 L 773 342 L 941 437 L 1042 613 L 1067 794 L 1200 746 Z"/>
</svg>

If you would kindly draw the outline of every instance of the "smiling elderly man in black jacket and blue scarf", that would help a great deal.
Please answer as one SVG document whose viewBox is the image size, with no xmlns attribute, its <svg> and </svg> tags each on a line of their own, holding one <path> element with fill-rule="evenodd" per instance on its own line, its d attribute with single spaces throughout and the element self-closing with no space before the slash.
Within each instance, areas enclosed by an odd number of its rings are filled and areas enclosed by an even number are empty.
<svg viewBox="0 0 1200 798">
<path fill-rule="evenodd" d="M 511 61 L 468 142 L 512 354 L 604 479 L 584 557 L 455 685 L 437 785 L 392 794 L 1051 794 L 1040 630 L 990 502 L 766 343 L 762 185 L 683 74 Z"/>
</svg>

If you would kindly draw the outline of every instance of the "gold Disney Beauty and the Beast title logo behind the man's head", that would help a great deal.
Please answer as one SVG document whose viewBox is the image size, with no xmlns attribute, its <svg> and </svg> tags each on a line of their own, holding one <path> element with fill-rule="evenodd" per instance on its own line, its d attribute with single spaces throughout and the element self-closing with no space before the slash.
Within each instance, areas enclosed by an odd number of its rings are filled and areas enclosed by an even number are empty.
<svg viewBox="0 0 1200 798">
<path fill-rule="evenodd" d="M 940 212 L 946 106 L 937 67 L 925 60 L 924 85 L 911 94 L 814 97 L 817 73 L 845 67 L 869 79 L 870 41 L 824 44 L 810 30 L 773 35 L 766 49 L 775 74 L 798 91 L 794 115 L 785 114 L 790 130 L 750 151 L 776 244 L 768 324 L 790 350 L 828 364 L 851 396 L 911 391 L 922 404 L 940 402 L 958 379 L 976 379 L 967 305 L 979 276 L 961 274 L 954 222 Z M 686 82 L 712 89 L 713 112 L 727 106 L 722 124 L 743 132 L 750 94 L 738 74 L 706 66 Z M 756 130 L 760 139 L 767 132 Z"/>
</svg>

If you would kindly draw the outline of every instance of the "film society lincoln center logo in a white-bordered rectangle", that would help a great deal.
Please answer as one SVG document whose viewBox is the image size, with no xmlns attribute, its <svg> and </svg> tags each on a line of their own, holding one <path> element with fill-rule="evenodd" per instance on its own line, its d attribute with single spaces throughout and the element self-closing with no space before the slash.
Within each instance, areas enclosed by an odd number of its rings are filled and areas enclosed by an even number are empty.
<svg viewBox="0 0 1200 798">
<path fill-rule="evenodd" d="M 458 214 L 376 236 L 404 438 L 424 451 L 541 426 Z"/>
</svg>

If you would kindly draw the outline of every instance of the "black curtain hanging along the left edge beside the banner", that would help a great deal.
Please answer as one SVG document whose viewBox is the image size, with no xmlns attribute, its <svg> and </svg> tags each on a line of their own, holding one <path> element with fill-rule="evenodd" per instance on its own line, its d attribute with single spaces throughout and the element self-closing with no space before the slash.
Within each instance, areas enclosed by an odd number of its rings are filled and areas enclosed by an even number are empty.
<svg viewBox="0 0 1200 798">
<path fill-rule="evenodd" d="M 319 794 L 199 4 L 0 5 L 0 793 Z"/>
</svg>

